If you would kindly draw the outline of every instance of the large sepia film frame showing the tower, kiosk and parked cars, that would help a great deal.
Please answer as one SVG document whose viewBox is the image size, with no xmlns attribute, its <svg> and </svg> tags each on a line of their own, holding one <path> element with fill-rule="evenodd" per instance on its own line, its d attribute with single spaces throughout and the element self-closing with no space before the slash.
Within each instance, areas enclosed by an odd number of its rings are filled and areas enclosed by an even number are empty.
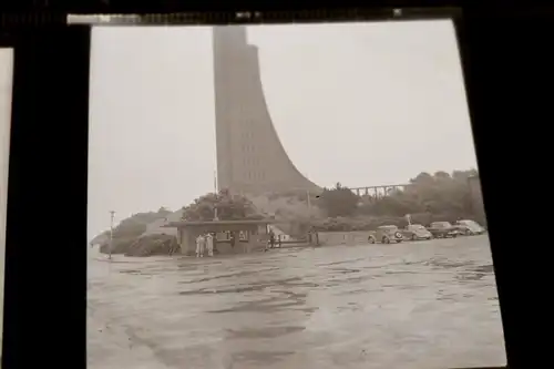
<svg viewBox="0 0 554 369">
<path fill-rule="evenodd" d="M 505 362 L 456 12 L 418 12 L 71 17 L 89 368 Z"/>
</svg>

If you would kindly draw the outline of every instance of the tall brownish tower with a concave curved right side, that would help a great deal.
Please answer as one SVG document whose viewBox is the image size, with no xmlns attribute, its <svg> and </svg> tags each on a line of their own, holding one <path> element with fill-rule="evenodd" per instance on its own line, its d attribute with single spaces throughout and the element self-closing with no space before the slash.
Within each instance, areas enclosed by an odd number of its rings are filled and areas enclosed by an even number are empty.
<svg viewBox="0 0 554 369">
<path fill-rule="evenodd" d="M 218 187 L 246 194 L 319 191 L 279 141 L 246 28 L 216 27 L 213 42 Z"/>
</svg>

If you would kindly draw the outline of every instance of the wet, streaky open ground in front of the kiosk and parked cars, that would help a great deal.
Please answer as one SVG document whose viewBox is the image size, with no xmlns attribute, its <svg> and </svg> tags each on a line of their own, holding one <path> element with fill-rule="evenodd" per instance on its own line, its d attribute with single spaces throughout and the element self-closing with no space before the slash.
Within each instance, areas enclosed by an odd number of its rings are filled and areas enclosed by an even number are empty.
<svg viewBox="0 0 554 369">
<path fill-rule="evenodd" d="M 89 368 L 505 363 L 486 236 L 89 262 Z"/>
</svg>

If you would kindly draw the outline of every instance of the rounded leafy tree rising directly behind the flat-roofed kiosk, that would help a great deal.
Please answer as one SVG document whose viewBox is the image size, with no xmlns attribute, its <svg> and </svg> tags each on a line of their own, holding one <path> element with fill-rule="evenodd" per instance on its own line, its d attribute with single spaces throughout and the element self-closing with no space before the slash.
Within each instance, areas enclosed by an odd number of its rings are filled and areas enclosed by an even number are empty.
<svg viewBox="0 0 554 369">
<path fill-rule="evenodd" d="M 216 208 L 219 221 L 260 219 L 264 217 L 245 196 L 230 195 L 228 192 L 222 191 L 218 194 L 211 193 L 198 197 L 188 206 L 183 207 L 183 219 L 213 221 Z"/>
</svg>

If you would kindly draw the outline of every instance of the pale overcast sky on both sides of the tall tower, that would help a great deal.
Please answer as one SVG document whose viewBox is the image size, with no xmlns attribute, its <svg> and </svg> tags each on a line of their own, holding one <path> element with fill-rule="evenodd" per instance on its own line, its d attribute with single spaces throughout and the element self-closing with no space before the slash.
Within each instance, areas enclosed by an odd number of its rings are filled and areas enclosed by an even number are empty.
<svg viewBox="0 0 554 369">
<path fill-rule="evenodd" d="M 89 236 L 213 191 L 212 30 L 94 28 Z M 275 127 L 320 186 L 476 167 L 450 21 L 248 27 Z M 195 173 L 194 177 L 187 173 Z"/>
</svg>

